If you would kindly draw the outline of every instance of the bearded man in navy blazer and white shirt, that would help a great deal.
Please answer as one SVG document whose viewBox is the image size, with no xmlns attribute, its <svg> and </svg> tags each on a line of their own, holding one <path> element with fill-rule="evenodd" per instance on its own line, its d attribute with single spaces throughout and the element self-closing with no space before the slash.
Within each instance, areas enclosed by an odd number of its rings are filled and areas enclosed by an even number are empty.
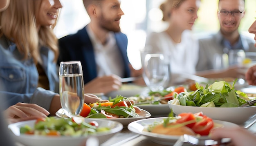
<svg viewBox="0 0 256 146">
<path fill-rule="evenodd" d="M 119 90 L 121 78 L 139 76 L 127 57 L 127 36 L 119 26 L 119 0 L 83 0 L 91 19 L 83 29 L 59 39 L 61 61 L 81 61 L 85 93 Z"/>
</svg>

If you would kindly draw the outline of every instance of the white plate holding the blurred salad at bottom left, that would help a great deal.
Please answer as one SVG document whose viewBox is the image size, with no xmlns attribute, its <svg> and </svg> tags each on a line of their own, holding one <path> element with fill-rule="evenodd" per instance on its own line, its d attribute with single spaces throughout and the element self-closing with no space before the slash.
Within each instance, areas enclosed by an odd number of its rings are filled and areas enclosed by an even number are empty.
<svg viewBox="0 0 256 146">
<path fill-rule="evenodd" d="M 106 142 L 115 133 L 123 129 L 123 125 L 116 121 L 109 121 L 105 119 L 85 119 L 85 122 L 96 121 L 99 123 L 100 127 L 109 127 L 110 131 L 103 133 L 96 133 L 93 135 L 99 139 L 99 144 Z M 8 128 L 12 131 L 13 137 L 17 142 L 24 144 L 25 146 L 80 146 L 87 136 L 83 137 L 50 137 L 50 136 L 36 136 L 36 135 L 23 135 L 20 134 L 20 127 L 29 125 L 34 127 L 36 120 L 29 120 L 18 122 L 8 125 Z"/>
</svg>

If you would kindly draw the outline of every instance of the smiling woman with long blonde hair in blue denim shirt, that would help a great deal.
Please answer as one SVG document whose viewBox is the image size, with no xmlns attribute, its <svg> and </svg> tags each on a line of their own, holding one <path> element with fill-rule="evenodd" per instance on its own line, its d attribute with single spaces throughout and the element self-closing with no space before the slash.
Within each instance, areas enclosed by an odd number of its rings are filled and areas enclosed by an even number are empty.
<svg viewBox="0 0 256 146">
<path fill-rule="evenodd" d="M 61 7 L 59 0 L 11 0 L 0 13 L 0 97 L 5 98 L 5 108 L 33 103 L 50 115 L 61 108 L 59 95 L 53 92 L 58 83 L 58 44 L 52 31 Z M 85 102 L 99 100 L 85 96 Z"/>
</svg>

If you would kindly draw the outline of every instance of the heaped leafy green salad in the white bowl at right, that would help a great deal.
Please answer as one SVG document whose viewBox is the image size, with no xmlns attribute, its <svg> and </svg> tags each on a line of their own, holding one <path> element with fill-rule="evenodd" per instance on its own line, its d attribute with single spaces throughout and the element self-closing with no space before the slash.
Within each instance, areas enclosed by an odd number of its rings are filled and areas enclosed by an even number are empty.
<svg viewBox="0 0 256 146">
<path fill-rule="evenodd" d="M 234 89 L 236 80 L 233 85 L 225 81 L 219 81 L 203 87 L 196 83 L 196 91 L 180 93 L 175 96 L 171 104 L 201 107 L 238 107 L 251 99 L 245 93 Z"/>
</svg>

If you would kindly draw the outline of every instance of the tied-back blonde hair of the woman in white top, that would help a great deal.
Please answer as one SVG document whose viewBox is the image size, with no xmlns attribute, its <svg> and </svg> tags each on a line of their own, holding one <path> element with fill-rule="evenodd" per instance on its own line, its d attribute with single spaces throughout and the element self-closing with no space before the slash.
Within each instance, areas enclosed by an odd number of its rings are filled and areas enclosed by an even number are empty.
<svg viewBox="0 0 256 146">
<path fill-rule="evenodd" d="M 165 2 L 163 2 L 159 6 L 159 9 L 161 9 L 163 12 L 162 20 L 168 21 L 170 15 L 171 15 L 171 11 L 178 9 L 184 1 L 186 1 L 186 0 L 166 0 Z"/>
</svg>

